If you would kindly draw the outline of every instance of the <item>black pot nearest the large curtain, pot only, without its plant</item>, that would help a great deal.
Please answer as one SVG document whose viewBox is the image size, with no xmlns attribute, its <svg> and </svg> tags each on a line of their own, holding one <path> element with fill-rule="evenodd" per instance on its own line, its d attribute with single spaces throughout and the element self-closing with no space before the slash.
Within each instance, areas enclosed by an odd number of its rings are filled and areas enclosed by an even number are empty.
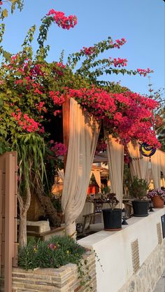
<svg viewBox="0 0 165 292">
<path fill-rule="evenodd" d="M 104 230 L 115 231 L 122 229 L 122 209 L 103 209 Z"/>
</svg>

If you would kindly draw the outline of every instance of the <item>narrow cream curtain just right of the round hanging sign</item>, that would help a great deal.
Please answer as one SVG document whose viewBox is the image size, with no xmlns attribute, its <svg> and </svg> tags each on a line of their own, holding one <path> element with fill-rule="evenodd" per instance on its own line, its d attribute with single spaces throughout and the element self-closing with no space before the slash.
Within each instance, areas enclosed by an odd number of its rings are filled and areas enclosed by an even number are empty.
<svg viewBox="0 0 165 292">
<path fill-rule="evenodd" d="M 151 169 L 154 188 L 161 188 L 161 155 L 160 151 L 156 151 L 151 156 Z"/>
</svg>

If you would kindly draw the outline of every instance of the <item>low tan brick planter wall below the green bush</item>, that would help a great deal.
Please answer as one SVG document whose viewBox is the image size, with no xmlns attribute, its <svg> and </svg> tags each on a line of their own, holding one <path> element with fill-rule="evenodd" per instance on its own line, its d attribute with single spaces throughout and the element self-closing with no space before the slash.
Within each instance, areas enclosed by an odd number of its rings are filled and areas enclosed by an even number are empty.
<svg viewBox="0 0 165 292">
<path fill-rule="evenodd" d="M 12 292 L 96 292 L 94 253 L 85 253 L 81 263 L 85 272 L 85 277 L 82 279 L 78 279 L 77 265 L 71 263 L 59 269 L 36 268 L 25 271 L 13 268 Z M 85 286 L 80 286 L 81 280 L 85 280 Z"/>
</svg>

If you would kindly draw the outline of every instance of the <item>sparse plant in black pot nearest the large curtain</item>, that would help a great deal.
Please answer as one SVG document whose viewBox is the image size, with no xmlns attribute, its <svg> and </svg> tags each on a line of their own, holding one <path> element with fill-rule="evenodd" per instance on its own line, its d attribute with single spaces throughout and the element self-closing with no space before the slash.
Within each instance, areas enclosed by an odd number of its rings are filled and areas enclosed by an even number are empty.
<svg viewBox="0 0 165 292">
<path fill-rule="evenodd" d="M 103 209 L 104 230 L 115 231 L 122 229 L 122 209 L 115 208 L 119 201 L 115 193 L 108 193 L 106 202 L 110 204 L 109 209 Z"/>
</svg>

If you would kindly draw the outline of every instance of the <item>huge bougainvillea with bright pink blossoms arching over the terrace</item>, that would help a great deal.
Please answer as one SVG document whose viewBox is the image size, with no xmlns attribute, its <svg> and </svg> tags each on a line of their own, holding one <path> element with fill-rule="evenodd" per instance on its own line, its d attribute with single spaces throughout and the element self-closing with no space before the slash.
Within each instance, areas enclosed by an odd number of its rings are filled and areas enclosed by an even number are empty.
<svg viewBox="0 0 165 292">
<path fill-rule="evenodd" d="M 45 46 L 45 41 L 53 23 L 69 30 L 76 25 L 77 18 L 75 15 L 66 16 L 63 12 L 50 10 L 39 28 L 36 54 L 31 45 L 35 25 L 29 29 L 22 51 L 13 55 L 0 47 L 0 154 L 10 151 L 18 136 L 38 134 L 48 148 L 43 157 L 45 170 L 54 175 L 50 167 L 55 169 L 57 157 L 66 153 L 62 137 L 62 104 L 65 95 L 76 99 L 84 110 L 101 120 L 109 134 L 113 134 L 122 144 L 138 139 L 159 146 L 153 130 L 155 118 L 152 114 L 157 102 L 99 78 L 103 74 L 146 76 L 151 72 L 150 69 L 127 70 L 127 60 L 120 57 L 99 59 L 106 50 L 120 49 L 126 40 L 113 41 L 109 37 L 69 55 L 66 64 L 63 64 L 62 57 L 48 63 L 45 58 L 49 46 Z M 0 42 L 4 32 L 5 27 L 1 24 Z"/>
</svg>

